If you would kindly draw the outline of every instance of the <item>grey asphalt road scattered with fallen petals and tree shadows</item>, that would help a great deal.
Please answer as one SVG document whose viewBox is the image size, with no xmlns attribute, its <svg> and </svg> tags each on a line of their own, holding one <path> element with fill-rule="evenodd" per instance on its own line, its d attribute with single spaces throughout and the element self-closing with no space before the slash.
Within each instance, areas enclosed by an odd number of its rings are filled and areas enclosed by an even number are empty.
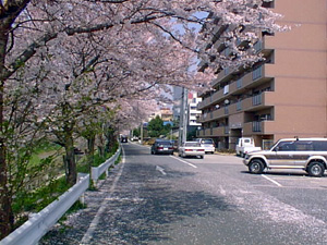
<svg viewBox="0 0 327 245">
<path fill-rule="evenodd" d="M 327 176 L 255 175 L 234 156 L 123 149 L 123 162 L 87 192 L 88 208 L 40 244 L 327 244 Z"/>
</svg>

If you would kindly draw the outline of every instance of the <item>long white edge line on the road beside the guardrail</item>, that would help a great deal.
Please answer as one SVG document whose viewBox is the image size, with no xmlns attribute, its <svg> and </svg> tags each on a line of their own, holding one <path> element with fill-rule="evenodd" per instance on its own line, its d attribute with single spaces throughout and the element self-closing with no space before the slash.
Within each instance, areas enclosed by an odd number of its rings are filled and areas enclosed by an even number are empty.
<svg viewBox="0 0 327 245">
<path fill-rule="evenodd" d="M 124 152 L 124 149 L 122 148 L 122 151 L 123 151 L 123 156 L 122 156 L 122 166 L 121 166 L 121 169 L 119 170 L 112 185 L 111 185 L 111 188 L 109 189 L 109 195 L 104 199 L 104 201 L 101 203 L 100 205 L 100 208 L 98 209 L 97 211 L 97 215 L 95 216 L 95 218 L 93 219 L 93 221 L 90 222 L 86 233 L 84 234 L 80 245 L 86 245 L 86 244 L 89 244 L 92 237 L 93 237 L 93 233 L 95 232 L 99 221 L 100 221 L 100 217 L 102 217 L 106 208 L 107 208 L 107 203 L 110 200 L 110 197 L 112 195 L 112 193 L 114 192 L 114 188 L 117 186 L 117 182 L 119 181 L 120 176 L 122 175 L 122 171 L 123 171 L 123 168 L 124 168 L 124 163 L 125 163 L 125 152 Z"/>
</svg>

